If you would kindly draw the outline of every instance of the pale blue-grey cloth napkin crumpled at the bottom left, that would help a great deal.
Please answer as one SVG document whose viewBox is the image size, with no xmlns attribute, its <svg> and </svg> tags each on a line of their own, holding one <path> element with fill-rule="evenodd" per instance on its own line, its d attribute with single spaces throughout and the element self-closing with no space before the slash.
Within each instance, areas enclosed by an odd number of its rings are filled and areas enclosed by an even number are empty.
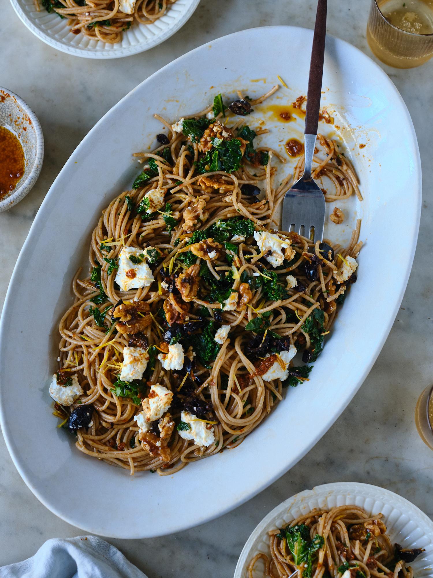
<svg viewBox="0 0 433 578">
<path fill-rule="evenodd" d="M 34 556 L 0 568 L 1 578 L 147 578 L 95 536 L 47 540 Z"/>
</svg>

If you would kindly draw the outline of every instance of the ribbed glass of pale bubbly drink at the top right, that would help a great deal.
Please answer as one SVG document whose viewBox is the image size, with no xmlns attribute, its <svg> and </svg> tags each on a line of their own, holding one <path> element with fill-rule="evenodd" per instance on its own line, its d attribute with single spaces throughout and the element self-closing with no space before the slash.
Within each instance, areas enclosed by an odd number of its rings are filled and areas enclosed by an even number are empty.
<svg viewBox="0 0 433 578">
<path fill-rule="evenodd" d="M 372 0 L 367 41 L 385 64 L 424 64 L 433 56 L 433 0 Z"/>
</svg>

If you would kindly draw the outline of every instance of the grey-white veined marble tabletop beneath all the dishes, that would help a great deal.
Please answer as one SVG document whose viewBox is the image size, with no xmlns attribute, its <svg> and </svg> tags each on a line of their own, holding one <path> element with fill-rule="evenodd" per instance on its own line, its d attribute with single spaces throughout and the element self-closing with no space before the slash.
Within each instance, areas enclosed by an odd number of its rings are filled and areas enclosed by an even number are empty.
<svg viewBox="0 0 433 578">
<path fill-rule="evenodd" d="M 80 140 L 111 106 L 173 58 L 218 36 L 273 24 L 313 28 L 315 6 L 315 0 L 201 0 L 191 20 L 162 46 L 103 62 L 70 57 L 44 45 L 21 24 L 9 2 L 3 2 L 0 84 L 23 97 L 38 114 L 46 153 L 38 183 L 28 197 L 0 214 L 0 309 L 46 191 Z M 330 0 L 327 28 L 371 55 L 365 39 L 368 8 L 369 0 Z M 433 454 L 421 442 L 413 420 L 416 400 L 433 375 L 433 61 L 409 71 L 383 68 L 412 115 L 425 180 L 415 264 L 389 339 L 330 431 L 262 494 L 186 532 L 151 540 L 109 540 L 149 578 L 233 576 L 242 546 L 262 517 L 295 492 L 331 481 L 362 481 L 389 488 L 433 519 Z M 380 258 L 394 259 L 398 266 L 398 255 Z M 380 275 L 380 260 L 378 268 Z M 31 414 L 31 407 L 24 405 L 23 412 Z M 31 435 L 31 429 L 23 424 L 23 443 L 26 435 Z M 2 438 L 0 460 L 0 565 L 27 558 L 48 538 L 81 534 L 48 512 L 28 490 Z"/>
</svg>

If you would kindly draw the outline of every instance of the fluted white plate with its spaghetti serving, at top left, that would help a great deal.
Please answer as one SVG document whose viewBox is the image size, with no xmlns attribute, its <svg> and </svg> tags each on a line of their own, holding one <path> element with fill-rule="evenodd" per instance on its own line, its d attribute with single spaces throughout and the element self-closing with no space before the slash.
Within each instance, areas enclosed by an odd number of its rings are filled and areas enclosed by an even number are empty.
<svg viewBox="0 0 433 578">
<path fill-rule="evenodd" d="M 43 42 L 84 58 L 150 50 L 191 18 L 200 0 L 10 0 Z"/>
</svg>

